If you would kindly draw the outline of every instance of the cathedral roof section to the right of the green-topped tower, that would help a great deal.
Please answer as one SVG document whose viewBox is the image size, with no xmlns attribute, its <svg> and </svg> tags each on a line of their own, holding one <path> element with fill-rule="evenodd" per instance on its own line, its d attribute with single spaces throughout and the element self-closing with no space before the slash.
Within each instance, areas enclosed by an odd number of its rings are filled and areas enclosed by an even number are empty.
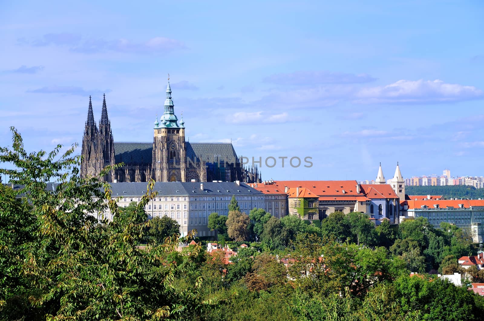
<svg viewBox="0 0 484 321">
<path fill-rule="evenodd" d="M 219 160 L 228 160 L 236 162 L 238 157 L 232 143 L 190 143 L 186 142 L 186 156 L 194 159 L 197 156 L 199 160 L 214 162 L 214 156 Z"/>
</svg>

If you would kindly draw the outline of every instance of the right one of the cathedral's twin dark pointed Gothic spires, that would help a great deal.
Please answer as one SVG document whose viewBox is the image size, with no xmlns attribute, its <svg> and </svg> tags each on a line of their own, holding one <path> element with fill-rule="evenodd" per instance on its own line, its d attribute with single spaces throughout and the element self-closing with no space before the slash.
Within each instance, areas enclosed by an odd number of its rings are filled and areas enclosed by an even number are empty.
<svg viewBox="0 0 484 321">
<path fill-rule="evenodd" d="M 106 94 L 103 95 L 103 109 L 101 120 L 99 121 L 99 131 L 97 135 L 97 160 L 98 172 L 108 165 L 114 165 L 114 141 L 111 132 L 111 122 L 107 117 Z M 112 182 L 114 171 L 106 175 L 104 180 Z"/>
</svg>

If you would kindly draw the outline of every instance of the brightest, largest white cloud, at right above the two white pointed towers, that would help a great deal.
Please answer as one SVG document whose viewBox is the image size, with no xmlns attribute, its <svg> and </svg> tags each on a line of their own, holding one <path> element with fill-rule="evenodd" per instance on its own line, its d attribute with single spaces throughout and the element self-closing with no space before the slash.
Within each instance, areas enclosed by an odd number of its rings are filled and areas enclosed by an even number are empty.
<svg viewBox="0 0 484 321">
<path fill-rule="evenodd" d="M 479 99 L 483 91 L 473 86 L 447 84 L 436 80 L 399 80 L 393 84 L 360 89 L 357 102 L 456 102 Z"/>
</svg>

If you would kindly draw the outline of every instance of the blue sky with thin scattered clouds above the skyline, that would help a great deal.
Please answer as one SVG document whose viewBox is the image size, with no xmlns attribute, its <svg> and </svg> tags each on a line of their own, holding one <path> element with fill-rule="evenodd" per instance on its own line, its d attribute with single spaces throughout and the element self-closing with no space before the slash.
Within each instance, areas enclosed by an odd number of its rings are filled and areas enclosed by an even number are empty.
<svg viewBox="0 0 484 321">
<path fill-rule="evenodd" d="M 388 179 L 397 161 L 404 177 L 484 176 L 483 9 L 0 0 L 0 146 L 11 126 L 27 151 L 82 143 L 103 93 L 114 140 L 152 142 L 169 73 L 187 140 L 231 141 L 266 180 L 371 180 L 380 162 Z"/>
</svg>

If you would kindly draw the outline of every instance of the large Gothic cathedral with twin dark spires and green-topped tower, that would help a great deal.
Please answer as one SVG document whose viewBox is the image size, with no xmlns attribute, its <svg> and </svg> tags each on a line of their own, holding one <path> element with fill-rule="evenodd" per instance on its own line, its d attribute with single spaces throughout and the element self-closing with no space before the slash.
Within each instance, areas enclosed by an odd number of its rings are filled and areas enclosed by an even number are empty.
<svg viewBox="0 0 484 321">
<path fill-rule="evenodd" d="M 107 116 L 106 95 L 101 120 L 96 126 L 89 97 L 88 117 L 82 139 L 81 176 L 98 174 L 105 166 L 124 166 L 104 177 L 107 182 L 207 182 L 240 180 L 257 183 L 261 175 L 256 168 L 245 168 L 232 143 L 191 143 L 185 141 L 185 122 L 174 112 L 168 78 L 165 112 L 156 117 L 153 142 L 114 142 Z"/>
</svg>

